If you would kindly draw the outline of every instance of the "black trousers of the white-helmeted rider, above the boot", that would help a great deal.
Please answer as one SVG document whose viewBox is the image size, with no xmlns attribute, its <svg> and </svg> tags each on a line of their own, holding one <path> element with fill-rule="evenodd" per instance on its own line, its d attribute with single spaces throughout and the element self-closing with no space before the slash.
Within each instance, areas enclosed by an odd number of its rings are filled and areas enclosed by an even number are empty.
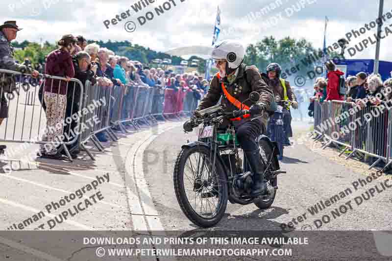
<svg viewBox="0 0 392 261">
<path fill-rule="evenodd" d="M 265 129 L 260 119 L 249 120 L 236 127 L 238 142 L 244 151 L 254 151 L 259 149 L 256 139 L 265 133 Z"/>
</svg>

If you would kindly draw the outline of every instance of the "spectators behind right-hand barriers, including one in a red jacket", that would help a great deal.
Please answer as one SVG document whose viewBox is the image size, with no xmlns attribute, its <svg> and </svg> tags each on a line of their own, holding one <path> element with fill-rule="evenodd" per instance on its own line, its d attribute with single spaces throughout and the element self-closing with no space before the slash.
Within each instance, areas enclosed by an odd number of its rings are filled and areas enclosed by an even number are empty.
<svg viewBox="0 0 392 261">
<path fill-rule="evenodd" d="M 340 142 L 348 143 L 352 148 L 366 151 L 371 155 L 388 158 L 390 138 L 387 133 L 391 123 L 389 114 L 384 112 L 386 108 L 392 107 L 392 72 L 391 78 L 383 81 L 378 73 L 368 75 L 360 71 L 355 76 L 343 79 L 344 82 L 341 83 L 340 78 L 344 73 L 336 70 L 333 62 L 326 63 L 326 68 L 328 78 L 316 79 L 315 92 L 310 98 L 311 103 L 308 108 L 309 116 L 315 117 L 315 129 L 316 127 L 319 129 L 328 119 L 335 120 L 336 126 L 331 124 L 328 130 L 335 133 L 341 131 L 338 139 Z M 340 90 L 342 88 L 344 88 L 343 92 Z M 341 106 L 330 107 L 331 109 L 324 113 L 326 107 L 322 106 L 323 103 L 333 100 L 344 101 L 344 103 L 341 103 Z M 316 101 L 319 102 L 317 113 Z M 355 113 L 350 112 L 350 118 L 343 119 L 341 116 L 348 115 L 346 113 L 351 108 L 356 108 Z M 340 120 L 336 121 L 337 118 Z M 342 132 L 342 129 L 347 126 L 349 131 Z M 377 164 L 384 167 L 379 157 L 369 156 L 367 161 L 370 165 Z"/>
</svg>

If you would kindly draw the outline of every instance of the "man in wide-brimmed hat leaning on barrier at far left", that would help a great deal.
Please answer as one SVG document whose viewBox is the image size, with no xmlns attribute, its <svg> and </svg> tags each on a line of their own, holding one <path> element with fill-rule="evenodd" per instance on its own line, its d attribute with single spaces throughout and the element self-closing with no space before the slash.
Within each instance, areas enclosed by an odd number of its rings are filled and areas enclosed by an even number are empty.
<svg viewBox="0 0 392 261">
<path fill-rule="evenodd" d="M 31 73 L 33 77 L 39 75 L 38 71 L 32 68 L 18 64 L 13 58 L 13 48 L 11 41 L 16 38 L 18 31 L 22 30 L 16 25 L 16 21 L 6 21 L 0 25 L 0 69 L 19 71 L 22 73 Z M 12 74 L 0 73 L 0 124 L 3 119 L 8 118 L 8 104 L 4 93 L 12 93 L 16 89 L 15 77 Z M 0 146 L 0 152 L 5 146 Z"/>
</svg>

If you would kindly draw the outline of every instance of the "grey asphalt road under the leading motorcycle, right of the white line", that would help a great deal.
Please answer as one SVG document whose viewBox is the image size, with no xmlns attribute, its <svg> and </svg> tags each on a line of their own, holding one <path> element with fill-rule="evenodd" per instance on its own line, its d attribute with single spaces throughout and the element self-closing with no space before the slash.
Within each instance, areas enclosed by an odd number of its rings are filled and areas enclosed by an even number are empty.
<svg viewBox="0 0 392 261">
<path fill-rule="evenodd" d="M 308 129 L 307 124 L 295 122 L 294 132 Z M 174 194 L 172 170 L 181 145 L 187 140 L 194 140 L 195 135 L 184 134 L 182 129 L 175 128 L 159 136 L 147 148 L 144 165 L 145 176 L 149 183 L 150 192 L 155 207 L 161 215 L 162 224 L 167 230 L 195 229 L 185 215 L 181 212 Z M 158 152 L 159 157 L 156 157 Z M 149 156 L 148 156 L 149 155 Z M 152 161 L 152 158 L 155 158 Z M 150 162 L 153 162 L 152 164 Z M 226 214 L 217 225 L 219 229 L 235 230 L 276 230 L 281 223 L 288 223 L 293 218 L 306 213 L 307 219 L 295 225 L 301 228 L 311 225 L 316 229 L 314 220 L 321 219 L 323 214 L 340 207 L 349 199 L 361 195 L 362 192 L 374 187 L 386 176 L 355 190 L 352 183 L 365 175 L 353 173 L 349 169 L 337 165 L 311 151 L 304 144 L 294 144 L 286 147 L 281 169 L 287 174 L 278 176 L 277 195 L 272 207 L 261 211 L 255 205 L 240 206 L 227 205 Z M 320 200 L 326 200 L 339 194 L 347 188 L 352 193 L 341 199 L 322 212 L 312 215 L 307 210 Z M 381 188 L 381 187 L 380 187 Z M 349 192 L 348 192 L 349 193 Z M 342 214 L 328 224 L 323 224 L 322 230 L 391 230 L 392 189 L 375 192 L 374 197 Z M 354 202 L 354 200 L 353 200 Z"/>
</svg>

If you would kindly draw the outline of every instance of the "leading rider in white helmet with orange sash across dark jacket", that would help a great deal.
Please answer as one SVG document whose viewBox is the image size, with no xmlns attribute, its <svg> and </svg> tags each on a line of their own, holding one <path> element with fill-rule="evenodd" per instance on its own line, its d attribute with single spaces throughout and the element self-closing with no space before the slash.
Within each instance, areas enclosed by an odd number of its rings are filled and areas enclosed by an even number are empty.
<svg viewBox="0 0 392 261">
<path fill-rule="evenodd" d="M 245 101 L 243 109 L 249 109 L 251 115 L 261 115 L 270 108 L 273 99 L 272 91 L 255 66 L 247 67 L 243 64 L 244 55 L 245 49 L 239 42 L 227 40 L 215 44 L 212 58 L 216 61 L 219 72 L 211 79 L 210 89 L 200 101 L 196 112 L 216 105 L 221 96 L 221 106 L 225 112 L 238 111 L 241 109 L 241 102 L 248 99 L 251 92 L 259 93 L 260 99 L 256 104 L 252 104 L 250 100 Z M 233 121 L 238 142 L 253 173 L 251 196 L 259 196 L 267 192 L 267 181 L 263 176 L 264 169 L 261 164 L 259 145 L 256 142 L 259 135 L 266 132 L 267 119 L 266 113 L 254 120 L 244 117 Z M 187 124 L 187 122 L 184 124 L 184 130 L 192 131 L 192 126 Z"/>
</svg>

